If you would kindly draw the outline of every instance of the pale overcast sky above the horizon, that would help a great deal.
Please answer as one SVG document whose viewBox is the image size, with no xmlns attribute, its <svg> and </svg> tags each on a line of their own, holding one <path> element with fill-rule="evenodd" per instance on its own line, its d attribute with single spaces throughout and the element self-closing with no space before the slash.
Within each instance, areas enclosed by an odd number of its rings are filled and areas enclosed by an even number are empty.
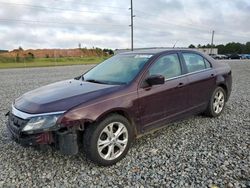
<svg viewBox="0 0 250 188">
<path fill-rule="evenodd" d="M 130 0 L 0 0 L 0 49 L 130 48 Z M 134 0 L 134 47 L 250 41 L 250 0 Z"/>
</svg>

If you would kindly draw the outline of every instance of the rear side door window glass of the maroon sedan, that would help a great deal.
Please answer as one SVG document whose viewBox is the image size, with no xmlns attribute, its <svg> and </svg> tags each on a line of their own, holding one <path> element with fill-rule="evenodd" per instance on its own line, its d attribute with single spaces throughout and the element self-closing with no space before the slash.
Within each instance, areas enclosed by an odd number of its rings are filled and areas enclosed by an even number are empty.
<svg viewBox="0 0 250 188">
<path fill-rule="evenodd" d="M 202 56 L 194 53 L 183 53 L 184 60 L 187 65 L 188 72 L 195 72 L 210 68 L 210 63 Z"/>
</svg>

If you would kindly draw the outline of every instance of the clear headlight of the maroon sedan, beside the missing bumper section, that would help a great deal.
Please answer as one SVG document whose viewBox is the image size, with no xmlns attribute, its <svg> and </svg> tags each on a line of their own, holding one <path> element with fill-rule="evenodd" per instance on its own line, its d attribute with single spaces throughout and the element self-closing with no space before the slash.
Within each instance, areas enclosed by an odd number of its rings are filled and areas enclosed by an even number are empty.
<svg viewBox="0 0 250 188">
<path fill-rule="evenodd" d="M 27 132 L 53 128 L 60 116 L 61 114 L 33 117 L 28 121 L 22 131 Z"/>
</svg>

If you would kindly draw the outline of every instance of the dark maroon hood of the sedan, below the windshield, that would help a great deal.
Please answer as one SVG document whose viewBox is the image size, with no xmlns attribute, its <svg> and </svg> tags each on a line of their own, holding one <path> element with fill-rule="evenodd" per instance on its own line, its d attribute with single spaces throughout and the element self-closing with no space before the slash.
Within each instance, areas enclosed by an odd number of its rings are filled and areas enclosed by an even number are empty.
<svg viewBox="0 0 250 188">
<path fill-rule="evenodd" d="M 122 86 L 65 80 L 25 93 L 15 100 L 14 107 L 30 114 L 67 111 L 120 87 Z"/>
</svg>

